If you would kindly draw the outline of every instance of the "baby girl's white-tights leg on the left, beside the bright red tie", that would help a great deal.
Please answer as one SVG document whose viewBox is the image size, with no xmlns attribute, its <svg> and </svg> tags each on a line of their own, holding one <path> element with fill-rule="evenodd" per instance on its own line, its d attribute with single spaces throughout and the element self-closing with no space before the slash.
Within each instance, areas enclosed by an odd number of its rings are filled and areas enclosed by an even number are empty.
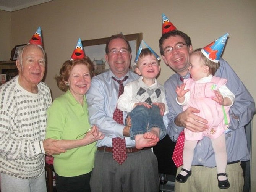
<svg viewBox="0 0 256 192">
<path fill-rule="evenodd" d="M 188 141 L 185 139 L 183 150 L 183 169 L 191 170 L 191 164 L 194 158 L 194 148 L 198 141 Z M 181 175 L 187 175 L 185 171 L 180 171 Z"/>
</svg>

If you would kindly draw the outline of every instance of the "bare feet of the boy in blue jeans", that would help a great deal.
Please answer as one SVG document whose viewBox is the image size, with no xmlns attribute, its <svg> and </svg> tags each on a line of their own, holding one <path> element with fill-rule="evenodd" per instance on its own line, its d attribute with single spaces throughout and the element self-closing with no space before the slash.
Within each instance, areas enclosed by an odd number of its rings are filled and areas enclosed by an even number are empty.
<svg viewBox="0 0 256 192">
<path fill-rule="evenodd" d="M 135 147 L 143 149 L 144 147 L 152 147 L 159 142 L 160 129 L 157 127 L 152 128 L 149 132 L 135 136 Z"/>
</svg>

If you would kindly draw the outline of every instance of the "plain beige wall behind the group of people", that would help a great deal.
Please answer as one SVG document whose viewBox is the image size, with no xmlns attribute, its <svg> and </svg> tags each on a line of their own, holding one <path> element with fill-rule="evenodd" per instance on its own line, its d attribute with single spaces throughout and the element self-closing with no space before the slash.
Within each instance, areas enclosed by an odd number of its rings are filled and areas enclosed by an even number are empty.
<svg viewBox="0 0 256 192">
<path fill-rule="evenodd" d="M 119 32 L 142 32 L 147 44 L 159 53 L 162 13 L 178 29 L 190 35 L 194 48 L 207 45 L 229 32 L 230 38 L 222 57 L 230 63 L 255 100 L 255 0 L 55 0 L 11 14 L 0 11 L 1 34 L 2 25 L 9 32 L 8 22 L 11 21 L 10 43 L 6 40 L 9 39 L 8 34 L 0 37 L 0 42 L 3 42 L 0 44 L 0 60 L 8 59 L 11 48 L 28 42 L 37 27 L 41 26 L 48 59 L 45 82 L 52 89 L 53 98 L 56 98 L 62 92 L 58 90 L 53 76 L 58 73 L 63 61 L 70 58 L 78 37 L 89 40 Z M 6 19 L 3 24 L 2 17 Z M 163 84 L 173 71 L 163 61 L 161 67 L 158 80 Z M 253 127 L 256 127 L 255 118 Z M 253 170 L 256 167 L 255 131 L 252 131 L 252 138 Z M 256 172 L 252 172 L 251 178 L 251 191 L 256 191 Z"/>
</svg>

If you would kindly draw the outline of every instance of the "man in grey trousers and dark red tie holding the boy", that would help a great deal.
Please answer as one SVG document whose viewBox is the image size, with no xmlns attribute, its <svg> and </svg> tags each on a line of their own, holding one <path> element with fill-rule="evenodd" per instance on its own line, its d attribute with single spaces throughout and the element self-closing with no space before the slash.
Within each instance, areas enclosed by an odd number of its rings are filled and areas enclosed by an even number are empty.
<svg viewBox="0 0 256 192">
<path fill-rule="evenodd" d="M 126 113 L 117 110 L 123 86 L 139 78 L 129 71 L 131 47 L 122 34 L 112 35 L 105 52 L 110 70 L 93 77 L 86 94 L 90 123 L 97 124 L 105 135 L 97 142 L 91 191 L 159 191 L 156 156 L 150 148 L 135 148 L 135 141 L 129 137 L 130 126 L 124 125 Z"/>
</svg>

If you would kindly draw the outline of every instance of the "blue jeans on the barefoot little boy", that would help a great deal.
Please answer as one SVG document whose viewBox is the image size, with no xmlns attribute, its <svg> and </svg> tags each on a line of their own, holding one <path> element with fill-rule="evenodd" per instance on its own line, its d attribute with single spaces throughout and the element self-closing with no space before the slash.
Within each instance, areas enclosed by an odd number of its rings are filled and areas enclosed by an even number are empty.
<svg viewBox="0 0 256 192">
<path fill-rule="evenodd" d="M 144 134 L 153 127 L 160 129 L 159 139 L 163 139 L 166 131 L 163 117 L 160 115 L 160 109 L 156 105 L 152 105 L 150 109 L 143 105 L 136 106 L 130 113 L 131 128 L 130 138 L 135 140 L 135 135 Z"/>
</svg>

